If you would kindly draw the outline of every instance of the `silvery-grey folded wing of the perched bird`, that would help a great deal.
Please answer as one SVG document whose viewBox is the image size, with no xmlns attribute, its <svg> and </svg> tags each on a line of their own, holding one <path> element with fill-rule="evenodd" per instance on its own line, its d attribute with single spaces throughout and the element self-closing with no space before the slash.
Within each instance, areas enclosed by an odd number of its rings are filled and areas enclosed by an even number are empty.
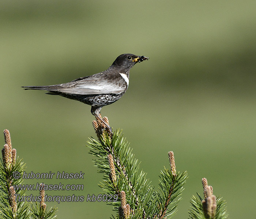
<svg viewBox="0 0 256 219">
<path fill-rule="evenodd" d="M 82 80 L 60 84 L 57 91 L 80 95 L 98 95 L 109 93 L 118 94 L 124 92 L 125 89 L 126 86 L 124 83 L 114 84 L 101 78 L 84 78 Z"/>
</svg>

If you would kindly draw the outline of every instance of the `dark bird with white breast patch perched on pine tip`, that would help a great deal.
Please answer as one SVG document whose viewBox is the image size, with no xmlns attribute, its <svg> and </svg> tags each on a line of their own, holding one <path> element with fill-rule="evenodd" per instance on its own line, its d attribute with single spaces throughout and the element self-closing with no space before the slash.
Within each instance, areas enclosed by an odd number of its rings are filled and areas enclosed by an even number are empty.
<svg viewBox="0 0 256 219">
<path fill-rule="evenodd" d="M 25 90 L 44 90 L 50 95 L 60 95 L 91 105 L 91 114 L 101 119 L 101 108 L 119 100 L 127 91 L 130 69 L 137 63 L 148 60 L 148 57 L 125 53 L 119 55 L 113 64 L 103 72 L 80 77 L 64 84 L 48 86 L 22 86 Z"/>
</svg>

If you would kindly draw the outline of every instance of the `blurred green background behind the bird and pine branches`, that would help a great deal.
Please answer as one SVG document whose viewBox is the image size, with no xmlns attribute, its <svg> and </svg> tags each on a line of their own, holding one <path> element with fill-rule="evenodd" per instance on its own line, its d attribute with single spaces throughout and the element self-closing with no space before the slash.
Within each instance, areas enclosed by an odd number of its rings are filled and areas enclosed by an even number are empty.
<svg viewBox="0 0 256 219">
<path fill-rule="evenodd" d="M 20 87 L 69 82 L 133 53 L 150 59 L 131 69 L 127 93 L 102 115 L 124 130 L 155 187 L 170 150 L 177 170 L 188 171 L 174 218 L 188 218 L 203 177 L 227 201 L 230 218 L 254 218 L 255 12 L 248 0 L 1 1 L 0 127 L 10 130 L 26 172 L 84 172 L 83 180 L 25 183 L 84 185 L 51 196 L 102 192 L 85 146 L 95 137 L 90 106 Z M 103 202 L 46 204 L 57 205 L 58 218 L 113 214 Z"/>
</svg>

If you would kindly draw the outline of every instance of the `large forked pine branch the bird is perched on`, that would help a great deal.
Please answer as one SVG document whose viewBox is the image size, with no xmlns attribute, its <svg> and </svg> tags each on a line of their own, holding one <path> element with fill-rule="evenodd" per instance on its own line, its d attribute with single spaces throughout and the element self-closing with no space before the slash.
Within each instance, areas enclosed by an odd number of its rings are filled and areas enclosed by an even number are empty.
<svg viewBox="0 0 256 219">
<path fill-rule="evenodd" d="M 108 119 L 103 118 L 109 125 Z M 159 189 L 154 191 L 140 170 L 138 160 L 131 153 L 132 149 L 123 134 L 118 130 L 109 132 L 100 120 L 94 120 L 93 126 L 99 142 L 91 138 L 89 153 L 96 157 L 95 166 L 103 173 L 103 181 L 99 185 L 106 194 L 118 195 L 118 201 L 108 203 L 114 206 L 116 218 L 162 219 L 170 218 L 177 210 L 177 203 L 187 178 L 187 172 L 176 174 L 173 152 L 169 152 L 171 168 L 161 172 Z M 112 218 L 115 218 L 112 215 Z"/>
</svg>

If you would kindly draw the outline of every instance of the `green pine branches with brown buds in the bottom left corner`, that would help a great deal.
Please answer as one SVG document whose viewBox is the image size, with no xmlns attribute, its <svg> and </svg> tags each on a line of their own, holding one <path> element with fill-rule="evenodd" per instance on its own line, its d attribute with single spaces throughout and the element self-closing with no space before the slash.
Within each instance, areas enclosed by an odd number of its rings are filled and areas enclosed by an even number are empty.
<svg viewBox="0 0 256 219">
<path fill-rule="evenodd" d="M 23 173 L 25 164 L 19 157 L 16 158 L 16 150 L 12 148 L 10 132 L 4 130 L 5 145 L 2 149 L 2 159 L 0 164 L 0 218 L 1 219 L 53 219 L 55 218 L 56 208 L 46 211 L 44 203 L 44 189 L 40 190 L 42 198 L 40 204 L 35 207 L 19 197 L 25 194 L 19 185 L 23 184 Z M 18 186 L 18 187 L 17 187 Z M 16 190 L 15 190 L 16 188 Z M 32 204 L 32 203 L 31 203 Z"/>
</svg>

